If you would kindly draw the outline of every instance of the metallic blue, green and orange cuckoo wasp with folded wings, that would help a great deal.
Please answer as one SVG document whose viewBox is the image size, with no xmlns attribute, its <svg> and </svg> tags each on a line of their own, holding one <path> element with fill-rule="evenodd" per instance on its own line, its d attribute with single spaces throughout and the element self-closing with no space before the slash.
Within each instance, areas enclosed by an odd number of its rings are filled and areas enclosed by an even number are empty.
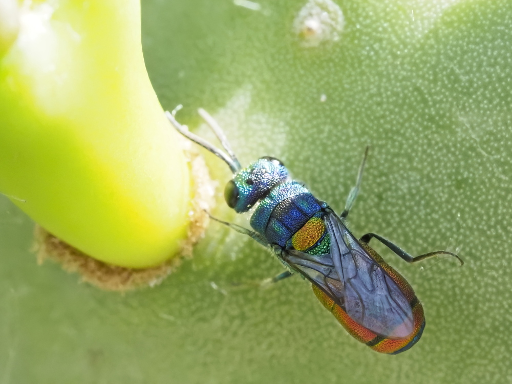
<svg viewBox="0 0 512 384">
<path fill-rule="evenodd" d="M 461 265 L 463 262 L 447 251 L 412 257 L 375 233 L 358 240 L 347 229 L 345 220 L 359 191 L 368 147 L 356 184 L 338 216 L 303 184 L 290 179 L 281 161 L 262 157 L 242 168 L 220 126 L 206 111 L 200 109 L 199 114 L 226 152 L 188 132 L 175 119 L 178 109 L 166 112 L 175 128 L 229 165 L 233 178 L 224 190 L 228 206 L 238 213 L 255 206 L 250 219 L 252 230 L 213 219 L 270 248 L 288 267 L 275 281 L 292 273 L 302 275 L 345 329 L 377 352 L 397 354 L 418 342 L 425 327 L 423 307 L 409 283 L 368 245 L 369 241 L 375 238 L 408 263 L 439 254 L 453 256 Z"/>
</svg>

